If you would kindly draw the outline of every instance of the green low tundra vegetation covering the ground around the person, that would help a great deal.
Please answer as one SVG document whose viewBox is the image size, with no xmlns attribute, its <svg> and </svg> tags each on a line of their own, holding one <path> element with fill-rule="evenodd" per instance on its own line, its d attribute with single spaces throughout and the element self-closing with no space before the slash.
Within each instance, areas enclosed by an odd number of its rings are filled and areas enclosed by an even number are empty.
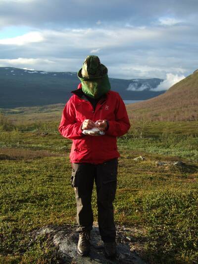
<svg viewBox="0 0 198 264">
<path fill-rule="evenodd" d="M 57 131 L 61 107 L 1 111 L 0 263 L 60 263 L 49 237 L 34 240 L 33 231 L 75 226 L 71 141 Z M 118 138 L 115 222 L 134 228 L 132 250 L 148 263 L 198 263 L 198 121 L 131 124 Z M 185 166 L 156 165 L 164 160 Z M 96 191 L 92 204 L 97 221 Z"/>
</svg>

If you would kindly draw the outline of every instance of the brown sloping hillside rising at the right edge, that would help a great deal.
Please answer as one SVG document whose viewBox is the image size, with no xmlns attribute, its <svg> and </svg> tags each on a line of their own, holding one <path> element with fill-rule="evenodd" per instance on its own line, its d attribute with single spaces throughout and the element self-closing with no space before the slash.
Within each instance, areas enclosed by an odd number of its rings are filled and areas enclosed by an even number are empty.
<svg viewBox="0 0 198 264">
<path fill-rule="evenodd" d="M 198 71 L 173 85 L 166 93 L 127 106 L 131 118 L 198 120 Z"/>
</svg>

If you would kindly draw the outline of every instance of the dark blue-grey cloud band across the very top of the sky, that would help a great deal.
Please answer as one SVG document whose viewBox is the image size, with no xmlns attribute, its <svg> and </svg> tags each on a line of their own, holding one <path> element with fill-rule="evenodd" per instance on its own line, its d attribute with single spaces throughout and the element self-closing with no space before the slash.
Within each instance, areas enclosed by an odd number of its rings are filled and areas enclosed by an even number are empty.
<svg viewBox="0 0 198 264">
<path fill-rule="evenodd" d="M 0 24 L 87 27 L 100 20 L 104 24 L 131 22 L 142 25 L 167 15 L 193 19 L 197 10 L 197 0 L 1 0 Z"/>
</svg>

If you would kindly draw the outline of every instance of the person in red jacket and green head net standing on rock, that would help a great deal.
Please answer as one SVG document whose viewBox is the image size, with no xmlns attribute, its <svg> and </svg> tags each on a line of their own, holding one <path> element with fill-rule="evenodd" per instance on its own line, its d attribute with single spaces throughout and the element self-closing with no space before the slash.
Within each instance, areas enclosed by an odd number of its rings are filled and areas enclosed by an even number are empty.
<svg viewBox="0 0 198 264">
<path fill-rule="evenodd" d="M 94 181 L 97 189 L 99 233 L 106 257 L 116 256 L 113 201 L 119 153 L 117 137 L 130 128 L 123 100 L 110 90 L 107 68 L 99 57 L 88 56 L 78 72 L 81 83 L 64 107 L 59 132 L 73 141 L 70 153 L 71 185 L 77 206 L 77 251 L 90 252 L 93 225 L 91 206 Z M 92 131 L 91 134 L 88 132 Z M 85 133 L 86 132 L 86 133 Z"/>
</svg>

